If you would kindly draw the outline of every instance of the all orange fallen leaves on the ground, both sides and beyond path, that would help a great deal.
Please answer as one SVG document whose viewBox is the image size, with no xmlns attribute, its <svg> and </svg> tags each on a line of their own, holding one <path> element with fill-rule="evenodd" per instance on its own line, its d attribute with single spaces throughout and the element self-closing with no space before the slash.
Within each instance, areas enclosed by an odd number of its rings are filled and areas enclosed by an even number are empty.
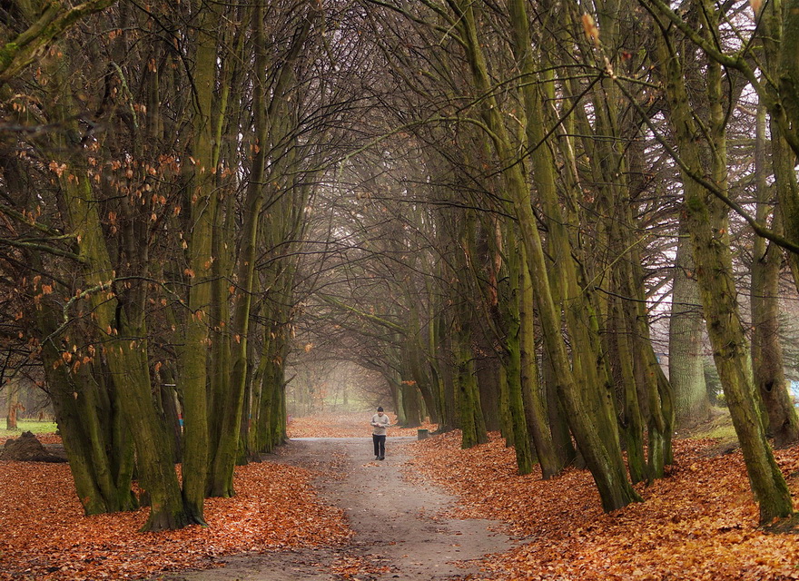
<svg viewBox="0 0 799 581">
<path fill-rule="evenodd" d="M 368 438 L 369 419 L 295 419 L 290 435 Z M 390 435 L 415 436 L 416 428 L 391 428 Z M 459 497 L 459 517 L 507 524 L 518 547 L 487 559 L 491 579 L 799 579 L 799 537 L 757 528 L 740 453 L 711 457 L 711 440 L 677 440 L 667 477 L 638 487 L 645 502 L 611 515 L 602 512 L 586 471 L 569 469 L 548 481 L 538 472 L 519 477 L 513 450 L 497 435 L 477 448 L 459 445 L 458 432 L 405 444 L 412 455 L 406 474 Z M 776 455 L 795 497 L 799 447 Z M 317 500 L 311 478 L 311 471 L 271 462 L 237 468 L 238 495 L 207 500 L 210 527 L 143 534 L 146 509 L 83 517 L 66 465 L 0 461 L 0 580 L 143 578 L 251 551 L 347 547 L 342 512 Z M 356 557 L 344 549 L 330 573 L 363 574 Z"/>
</svg>

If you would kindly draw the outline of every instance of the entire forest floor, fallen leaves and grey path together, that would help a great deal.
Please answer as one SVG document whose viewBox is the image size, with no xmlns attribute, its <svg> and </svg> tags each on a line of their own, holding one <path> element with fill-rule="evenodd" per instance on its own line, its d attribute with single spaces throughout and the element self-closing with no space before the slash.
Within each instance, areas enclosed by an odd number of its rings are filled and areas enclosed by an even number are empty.
<svg viewBox="0 0 799 581">
<path fill-rule="evenodd" d="M 136 532 L 146 509 L 83 517 L 65 465 L 0 462 L 0 579 L 799 579 L 799 537 L 757 527 L 717 439 L 676 440 L 644 502 L 604 514 L 586 471 L 518 476 L 496 434 L 461 450 L 458 432 L 391 428 L 376 461 L 361 416 L 295 419 L 237 468 L 236 497 L 207 501 L 209 527 L 169 533 Z M 799 447 L 776 456 L 795 497 Z"/>
</svg>

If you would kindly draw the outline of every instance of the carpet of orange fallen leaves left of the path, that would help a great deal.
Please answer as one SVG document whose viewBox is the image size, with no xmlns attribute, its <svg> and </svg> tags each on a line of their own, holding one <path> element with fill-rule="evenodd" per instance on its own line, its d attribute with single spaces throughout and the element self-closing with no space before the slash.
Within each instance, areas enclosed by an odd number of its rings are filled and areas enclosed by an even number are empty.
<svg viewBox="0 0 799 581">
<path fill-rule="evenodd" d="M 65 464 L 0 462 L 0 579 L 152 576 L 247 551 L 335 544 L 350 536 L 302 468 L 236 468 L 236 496 L 205 501 L 208 527 L 139 533 L 147 509 L 84 517 Z"/>
</svg>

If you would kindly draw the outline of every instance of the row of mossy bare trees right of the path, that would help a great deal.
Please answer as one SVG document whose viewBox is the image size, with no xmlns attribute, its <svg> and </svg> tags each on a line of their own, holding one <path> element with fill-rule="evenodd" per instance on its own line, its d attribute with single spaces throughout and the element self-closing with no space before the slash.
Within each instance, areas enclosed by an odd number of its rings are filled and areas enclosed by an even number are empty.
<svg viewBox="0 0 799 581">
<path fill-rule="evenodd" d="M 351 216 L 314 295 L 330 349 L 380 370 L 400 419 L 424 407 L 464 446 L 502 428 L 521 472 L 579 454 L 610 510 L 663 475 L 676 416 L 708 412 L 704 317 L 761 519 L 792 514 L 767 441 L 797 438 L 790 41 L 770 40 L 790 8 L 370 5 L 390 117 L 326 193 Z M 669 286 L 672 382 L 649 330 Z"/>
</svg>

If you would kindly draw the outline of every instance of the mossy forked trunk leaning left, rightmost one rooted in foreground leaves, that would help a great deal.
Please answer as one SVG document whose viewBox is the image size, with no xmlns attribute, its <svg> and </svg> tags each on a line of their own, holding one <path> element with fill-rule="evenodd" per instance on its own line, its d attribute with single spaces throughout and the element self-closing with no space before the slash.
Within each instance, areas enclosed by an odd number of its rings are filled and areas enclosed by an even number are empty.
<svg viewBox="0 0 799 581">
<path fill-rule="evenodd" d="M 705 5 L 702 14 L 704 34 L 715 34 L 717 23 L 714 21 L 714 6 Z M 658 57 L 669 104 L 669 122 L 686 168 L 683 171 L 686 225 L 694 249 L 707 334 L 735 433 L 744 453 L 749 482 L 760 506 L 760 521 L 765 524 L 793 513 L 791 494 L 774 461 L 760 416 L 749 346 L 738 313 L 729 247 L 728 210 L 712 192 L 708 192 L 694 179 L 697 175 L 709 175 L 716 187 L 726 191 L 725 107 L 722 102 L 721 67 L 715 63 L 707 67 L 707 141 L 697 140 L 700 131 L 688 99 L 685 75 L 678 55 L 670 50 L 671 46 L 666 44 L 666 39 L 658 39 Z M 704 152 L 700 150 L 703 146 Z"/>
</svg>

